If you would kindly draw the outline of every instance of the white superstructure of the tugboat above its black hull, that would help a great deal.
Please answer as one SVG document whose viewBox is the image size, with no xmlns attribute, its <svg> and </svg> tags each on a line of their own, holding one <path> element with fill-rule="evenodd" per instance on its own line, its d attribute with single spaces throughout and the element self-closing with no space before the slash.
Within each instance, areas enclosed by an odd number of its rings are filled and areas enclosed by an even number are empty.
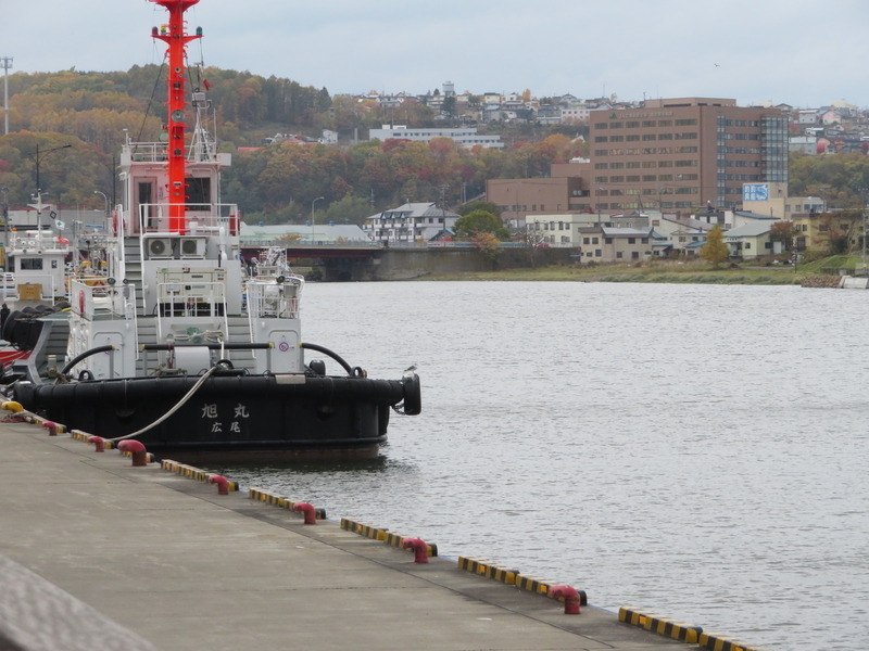
<svg viewBox="0 0 869 651">
<path fill-rule="evenodd" d="M 72 282 L 67 359 L 98 346 L 115 349 L 83 359 L 74 373 L 196 374 L 218 359 L 251 373 L 303 370 L 303 281 L 281 275 L 245 282 L 238 208 L 219 201 L 221 168 L 230 158 L 215 151 L 200 126 L 206 105 L 204 93 L 194 93 L 198 126 L 188 150 L 182 217 L 172 216 L 167 201 L 167 144 L 128 142 L 123 149 L 123 204 L 114 210 L 114 238 L 106 245 L 109 279 L 97 286 Z"/>
</svg>

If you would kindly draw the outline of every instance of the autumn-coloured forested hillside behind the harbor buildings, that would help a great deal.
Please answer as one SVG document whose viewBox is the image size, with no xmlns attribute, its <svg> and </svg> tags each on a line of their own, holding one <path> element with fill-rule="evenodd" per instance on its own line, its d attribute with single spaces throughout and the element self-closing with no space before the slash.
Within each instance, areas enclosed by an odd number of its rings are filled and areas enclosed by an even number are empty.
<svg viewBox="0 0 869 651">
<path fill-rule="evenodd" d="M 10 133 L 0 137 L 0 188 L 7 189 L 9 204 L 24 206 L 36 192 L 38 158 L 47 201 L 63 207 L 102 207 L 103 199 L 95 190 L 113 195 L 113 170 L 124 139 L 160 138 L 165 73 L 161 66 L 146 65 L 117 73 L 11 75 Z M 568 137 L 557 132 L 557 126 L 536 125 L 498 125 L 509 143 L 504 150 L 464 149 L 449 139 L 429 144 L 389 140 L 263 145 L 276 133 L 316 138 L 324 128 L 357 130 L 364 137 L 369 127 L 393 118 L 410 127 L 449 124 L 436 123 L 431 108 L 413 100 L 401 106 L 400 115 L 392 115 L 394 110 L 374 101 L 331 98 L 325 88 L 248 72 L 191 68 L 190 88 L 209 89 L 218 146 L 234 155 L 224 176 L 223 201 L 238 203 L 249 220 L 304 221 L 315 200 L 316 219 L 337 222 L 360 222 L 407 201 L 443 199 L 454 207 L 462 197 L 481 194 L 487 179 L 546 176 L 552 163 L 588 155 L 588 144 L 571 139 L 576 130 Z M 866 156 L 792 161 L 792 195 L 823 195 L 832 206 L 848 207 L 867 189 Z"/>
</svg>

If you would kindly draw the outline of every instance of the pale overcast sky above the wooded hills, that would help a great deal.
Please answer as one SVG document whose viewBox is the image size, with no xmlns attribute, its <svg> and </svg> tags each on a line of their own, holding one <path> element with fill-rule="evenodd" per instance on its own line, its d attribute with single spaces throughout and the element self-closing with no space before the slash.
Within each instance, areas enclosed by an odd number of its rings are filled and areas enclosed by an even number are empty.
<svg viewBox="0 0 869 651">
<path fill-rule="evenodd" d="M 809 0 L 201 0 L 191 61 L 330 93 L 522 91 L 869 107 L 869 2 Z M 0 0 L 12 71 L 160 63 L 148 0 Z M 201 51 L 201 54 L 200 54 Z"/>
</svg>

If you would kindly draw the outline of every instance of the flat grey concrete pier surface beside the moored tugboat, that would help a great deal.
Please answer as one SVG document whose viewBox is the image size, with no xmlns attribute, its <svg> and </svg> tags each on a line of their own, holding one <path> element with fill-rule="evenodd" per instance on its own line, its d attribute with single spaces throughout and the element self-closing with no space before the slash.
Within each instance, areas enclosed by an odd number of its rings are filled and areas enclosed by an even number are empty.
<svg viewBox="0 0 869 651">
<path fill-rule="evenodd" d="M 697 648 L 36 424 L 0 424 L 0 556 L 166 651 Z"/>
</svg>

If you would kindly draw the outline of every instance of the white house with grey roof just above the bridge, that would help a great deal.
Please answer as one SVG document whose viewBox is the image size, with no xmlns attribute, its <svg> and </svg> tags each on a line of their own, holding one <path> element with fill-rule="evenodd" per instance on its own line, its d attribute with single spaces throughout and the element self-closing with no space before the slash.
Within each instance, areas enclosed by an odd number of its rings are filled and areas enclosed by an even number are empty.
<svg viewBox="0 0 869 651">
<path fill-rule="evenodd" d="M 427 242 L 455 230 L 459 215 L 438 207 L 436 203 L 407 203 L 398 208 L 371 215 L 363 230 L 376 242 Z"/>
</svg>

